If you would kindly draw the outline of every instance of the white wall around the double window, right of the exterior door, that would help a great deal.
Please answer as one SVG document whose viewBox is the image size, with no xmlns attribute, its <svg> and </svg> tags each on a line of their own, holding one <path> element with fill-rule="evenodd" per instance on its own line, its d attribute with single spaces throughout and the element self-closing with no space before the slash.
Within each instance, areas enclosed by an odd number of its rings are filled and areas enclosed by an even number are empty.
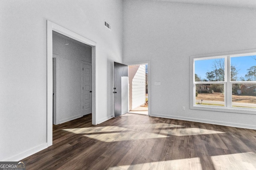
<svg viewBox="0 0 256 170">
<path fill-rule="evenodd" d="M 150 115 L 256 129 L 253 114 L 189 109 L 190 56 L 256 49 L 255 40 L 256 9 L 124 1 L 124 63 L 150 61 Z"/>
</svg>

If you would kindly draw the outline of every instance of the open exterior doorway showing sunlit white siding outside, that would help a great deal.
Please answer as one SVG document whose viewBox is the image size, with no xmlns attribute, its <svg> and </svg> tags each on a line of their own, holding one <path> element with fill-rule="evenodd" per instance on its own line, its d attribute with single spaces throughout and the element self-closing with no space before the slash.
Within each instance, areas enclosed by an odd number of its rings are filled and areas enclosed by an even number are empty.
<svg viewBox="0 0 256 170">
<path fill-rule="evenodd" d="M 148 115 L 148 64 L 128 66 L 129 112 Z"/>
</svg>

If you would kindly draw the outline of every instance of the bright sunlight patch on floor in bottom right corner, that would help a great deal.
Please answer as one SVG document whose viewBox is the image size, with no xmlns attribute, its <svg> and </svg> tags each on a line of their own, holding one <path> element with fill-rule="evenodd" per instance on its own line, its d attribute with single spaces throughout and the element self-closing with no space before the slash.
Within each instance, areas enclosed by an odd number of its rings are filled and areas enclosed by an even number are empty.
<svg viewBox="0 0 256 170">
<path fill-rule="evenodd" d="M 245 152 L 211 156 L 215 170 L 256 170 L 256 153 Z"/>
</svg>

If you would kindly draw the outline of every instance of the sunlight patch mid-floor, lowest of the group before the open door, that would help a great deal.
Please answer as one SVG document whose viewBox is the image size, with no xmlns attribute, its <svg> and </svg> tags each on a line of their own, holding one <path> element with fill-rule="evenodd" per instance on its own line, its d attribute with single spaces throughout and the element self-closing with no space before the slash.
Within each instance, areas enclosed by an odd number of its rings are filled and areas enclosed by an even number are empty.
<svg viewBox="0 0 256 170">
<path fill-rule="evenodd" d="M 103 133 L 96 135 L 84 135 L 92 139 L 96 139 L 102 142 L 117 142 L 117 141 L 130 141 L 139 139 L 152 139 L 152 138 L 163 138 L 165 135 L 159 135 L 148 132 L 120 132 L 120 133 Z"/>
</svg>

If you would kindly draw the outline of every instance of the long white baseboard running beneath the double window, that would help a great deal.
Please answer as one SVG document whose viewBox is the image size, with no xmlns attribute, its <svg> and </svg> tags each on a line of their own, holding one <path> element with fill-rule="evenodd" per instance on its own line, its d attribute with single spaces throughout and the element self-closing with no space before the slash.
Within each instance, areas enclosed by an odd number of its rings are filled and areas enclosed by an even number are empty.
<svg viewBox="0 0 256 170">
<path fill-rule="evenodd" d="M 230 122 L 223 122 L 223 121 L 212 121 L 212 120 L 206 120 L 206 119 L 194 119 L 194 118 L 190 118 L 190 117 L 180 117 L 180 116 L 170 116 L 170 115 L 150 114 L 150 116 L 256 130 L 256 125 L 245 125 L 245 124 L 238 124 L 238 123 L 230 123 Z"/>
</svg>

